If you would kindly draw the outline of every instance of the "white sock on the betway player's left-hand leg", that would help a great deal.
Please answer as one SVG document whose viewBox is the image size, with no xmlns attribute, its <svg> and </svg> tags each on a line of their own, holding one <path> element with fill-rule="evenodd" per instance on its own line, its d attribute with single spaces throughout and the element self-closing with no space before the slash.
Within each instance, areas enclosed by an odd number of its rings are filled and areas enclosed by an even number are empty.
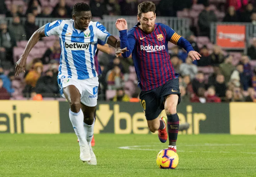
<svg viewBox="0 0 256 177">
<path fill-rule="evenodd" d="M 79 145 L 85 145 L 87 143 L 85 131 L 84 131 L 84 114 L 82 113 L 82 110 L 78 113 L 74 113 L 69 109 L 69 119 L 73 125 L 73 128 L 75 130 L 76 136 L 79 139 Z"/>
</svg>

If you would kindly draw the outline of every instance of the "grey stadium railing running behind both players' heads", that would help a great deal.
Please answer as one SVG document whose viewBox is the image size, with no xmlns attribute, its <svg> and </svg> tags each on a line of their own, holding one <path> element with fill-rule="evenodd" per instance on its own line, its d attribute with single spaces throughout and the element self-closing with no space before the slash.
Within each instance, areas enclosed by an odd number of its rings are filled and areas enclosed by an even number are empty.
<svg viewBox="0 0 256 177">
<path fill-rule="evenodd" d="M 93 18 L 92 21 L 98 21 L 102 23 L 108 32 L 114 36 L 119 36 L 119 32 L 116 29 L 115 23 L 118 18 L 125 18 L 128 24 L 128 29 L 134 27 L 137 24 L 137 16 L 103 16 L 103 19 Z M 60 18 L 36 18 L 35 24 L 42 27 L 46 23 L 53 22 Z M 66 19 L 66 18 L 65 18 Z M 6 17 L 7 23 L 12 23 L 11 17 Z M 25 24 L 26 18 L 21 18 L 21 23 Z M 156 17 L 156 22 L 169 25 L 176 33 L 180 35 L 186 35 L 190 31 L 191 20 L 189 18 L 178 17 Z"/>
</svg>

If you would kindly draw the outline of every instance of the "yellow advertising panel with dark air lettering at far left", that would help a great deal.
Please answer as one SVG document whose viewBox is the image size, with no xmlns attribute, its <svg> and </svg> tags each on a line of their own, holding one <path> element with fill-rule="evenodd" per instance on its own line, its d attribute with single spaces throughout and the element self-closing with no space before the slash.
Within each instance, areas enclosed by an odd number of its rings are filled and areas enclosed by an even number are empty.
<svg viewBox="0 0 256 177">
<path fill-rule="evenodd" d="M 0 101 L 0 133 L 60 133 L 58 101 Z"/>
</svg>

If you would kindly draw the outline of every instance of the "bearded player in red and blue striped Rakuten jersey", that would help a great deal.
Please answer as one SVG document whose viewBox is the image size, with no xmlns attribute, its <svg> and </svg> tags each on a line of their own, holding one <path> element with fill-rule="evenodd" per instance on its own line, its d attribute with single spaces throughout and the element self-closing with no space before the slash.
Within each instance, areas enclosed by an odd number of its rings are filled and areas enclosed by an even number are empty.
<svg viewBox="0 0 256 177">
<path fill-rule="evenodd" d="M 123 57 L 132 54 L 134 67 L 141 89 L 140 99 L 151 132 L 158 130 L 161 142 L 167 141 L 166 124 L 159 114 L 165 109 L 169 147 L 176 152 L 176 141 L 179 130 L 179 118 L 176 107 L 180 103 L 178 76 L 170 61 L 168 42 L 183 47 L 188 56 L 199 60 L 201 55 L 194 51 L 190 42 L 175 33 L 173 29 L 162 23 L 155 23 L 155 4 L 142 2 L 138 5 L 138 24 L 127 34 L 127 22 L 118 19 L 121 48 L 127 47 Z"/>
</svg>

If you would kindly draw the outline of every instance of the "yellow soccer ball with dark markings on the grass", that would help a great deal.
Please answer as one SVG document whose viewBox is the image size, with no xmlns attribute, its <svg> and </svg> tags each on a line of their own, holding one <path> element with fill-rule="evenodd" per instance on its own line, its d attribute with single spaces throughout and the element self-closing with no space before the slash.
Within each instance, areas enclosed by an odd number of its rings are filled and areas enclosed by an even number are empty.
<svg viewBox="0 0 256 177">
<path fill-rule="evenodd" d="M 156 157 L 160 169 L 175 169 L 178 165 L 178 154 L 171 149 L 161 150 Z"/>
</svg>

